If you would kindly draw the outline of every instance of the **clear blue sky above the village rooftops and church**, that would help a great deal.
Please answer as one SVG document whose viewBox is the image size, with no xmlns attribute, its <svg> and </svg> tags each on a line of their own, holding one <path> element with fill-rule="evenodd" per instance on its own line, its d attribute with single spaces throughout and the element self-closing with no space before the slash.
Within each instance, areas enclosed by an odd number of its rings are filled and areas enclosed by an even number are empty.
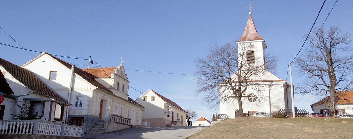
<svg viewBox="0 0 353 139">
<path fill-rule="evenodd" d="M 92 56 L 103 67 L 119 65 L 122 56 L 126 69 L 195 74 L 193 61 L 207 55 L 211 44 L 232 42 L 242 35 L 249 2 L 3 0 L 0 26 L 27 49 Z M 256 29 L 267 43 L 265 53 L 280 60 L 276 75 L 281 79 L 286 79 L 287 65 L 303 44 L 303 34 L 309 32 L 322 2 L 252 1 Z M 334 3 L 326 1 L 315 27 L 321 26 Z M 352 5 L 353 1 L 339 0 L 324 27 L 339 26 L 352 33 Z M 3 31 L 0 43 L 18 46 Z M 34 57 L 24 50 L 0 47 L 0 58 L 17 65 Z M 61 59 L 77 67 L 88 65 L 84 60 Z M 131 70 L 126 73 L 130 85 L 141 92 L 150 88 L 184 109 L 196 110 L 199 116 L 211 118 L 217 112 L 203 106 L 201 95 L 195 96 L 193 76 Z M 294 83 L 303 79 L 294 73 Z M 130 88 L 129 95 L 136 99 L 140 93 Z M 298 108 L 310 109 L 316 101 L 311 96 L 295 96 Z"/>
</svg>

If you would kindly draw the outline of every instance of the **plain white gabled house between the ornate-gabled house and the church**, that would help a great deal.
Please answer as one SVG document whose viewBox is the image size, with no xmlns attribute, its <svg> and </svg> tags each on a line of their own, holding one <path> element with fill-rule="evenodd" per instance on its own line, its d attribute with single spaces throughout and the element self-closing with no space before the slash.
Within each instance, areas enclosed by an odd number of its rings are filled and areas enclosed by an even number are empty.
<svg viewBox="0 0 353 139">
<path fill-rule="evenodd" d="M 177 103 L 149 89 L 136 102 L 143 105 L 142 122 L 151 127 L 186 126 L 187 112 Z"/>
</svg>

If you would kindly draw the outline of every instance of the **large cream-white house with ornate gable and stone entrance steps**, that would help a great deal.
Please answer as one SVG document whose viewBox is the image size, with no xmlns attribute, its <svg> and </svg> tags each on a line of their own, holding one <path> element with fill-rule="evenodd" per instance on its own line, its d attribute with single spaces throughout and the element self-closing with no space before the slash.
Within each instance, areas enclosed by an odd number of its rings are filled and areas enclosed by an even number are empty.
<svg viewBox="0 0 353 139">
<path fill-rule="evenodd" d="M 44 52 L 22 67 L 34 72 L 60 96 L 70 98 L 72 107 L 67 111 L 67 121 L 72 125 L 84 124 L 85 132 L 94 126 L 99 130 L 95 128 L 89 133 L 116 130 L 104 125 L 104 121 L 114 121 L 112 125 L 118 124 L 115 127 L 119 129 L 141 125 L 144 107 L 128 97 L 130 82 L 122 63 L 117 67 L 80 69 Z"/>
</svg>

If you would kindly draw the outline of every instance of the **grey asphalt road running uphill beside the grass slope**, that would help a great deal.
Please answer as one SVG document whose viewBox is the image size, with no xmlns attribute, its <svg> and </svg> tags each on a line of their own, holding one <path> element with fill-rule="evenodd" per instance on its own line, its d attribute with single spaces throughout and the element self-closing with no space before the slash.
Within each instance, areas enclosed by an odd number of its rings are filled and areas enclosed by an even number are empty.
<svg viewBox="0 0 353 139">
<path fill-rule="evenodd" d="M 103 134 L 85 134 L 85 139 L 186 139 L 208 126 L 136 127 Z"/>
</svg>

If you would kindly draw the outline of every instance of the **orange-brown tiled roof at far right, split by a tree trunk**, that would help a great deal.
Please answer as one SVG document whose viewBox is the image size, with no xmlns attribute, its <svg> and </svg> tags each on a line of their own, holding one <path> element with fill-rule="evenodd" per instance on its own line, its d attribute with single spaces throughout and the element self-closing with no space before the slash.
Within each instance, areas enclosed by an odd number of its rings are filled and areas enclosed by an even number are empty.
<svg viewBox="0 0 353 139">
<path fill-rule="evenodd" d="M 330 96 L 321 99 L 320 101 L 311 104 L 313 105 L 326 105 L 330 101 Z M 340 93 L 336 98 L 336 104 L 353 104 L 353 91 L 346 91 Z"/>
</svg>

